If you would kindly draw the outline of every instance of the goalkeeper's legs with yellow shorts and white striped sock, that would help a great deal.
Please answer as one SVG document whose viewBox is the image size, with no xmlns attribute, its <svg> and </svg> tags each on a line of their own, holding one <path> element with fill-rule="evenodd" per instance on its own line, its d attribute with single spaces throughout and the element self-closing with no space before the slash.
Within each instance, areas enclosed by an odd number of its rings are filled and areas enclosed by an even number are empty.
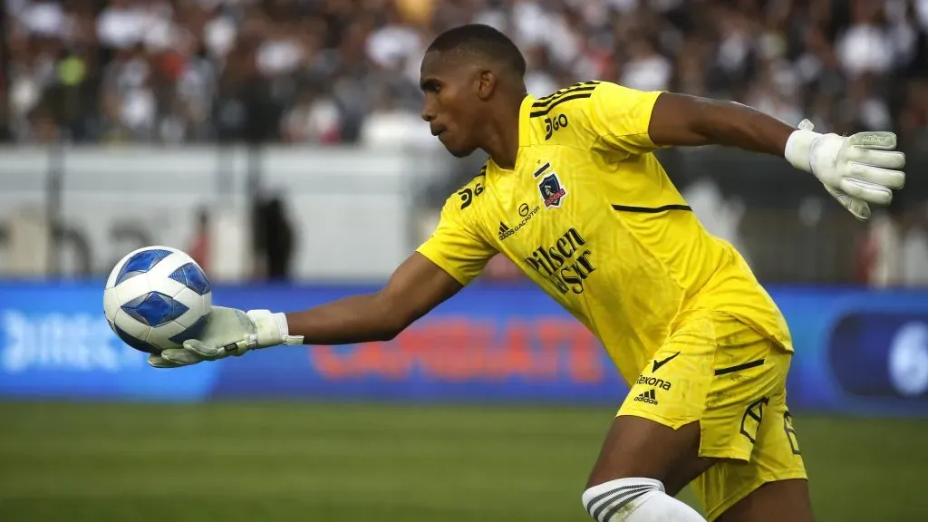
<svg viewBox="0 0 928 522">
<path fill-rule="evenodd" d="M 791 359 L 787 346 L 724 314 L 682 324 L 612 422 L 586 510 L 598 522 L 811 522 L 786 408 Z M 674 498 L 693 481 L 705 518 Z"/>
</svg>

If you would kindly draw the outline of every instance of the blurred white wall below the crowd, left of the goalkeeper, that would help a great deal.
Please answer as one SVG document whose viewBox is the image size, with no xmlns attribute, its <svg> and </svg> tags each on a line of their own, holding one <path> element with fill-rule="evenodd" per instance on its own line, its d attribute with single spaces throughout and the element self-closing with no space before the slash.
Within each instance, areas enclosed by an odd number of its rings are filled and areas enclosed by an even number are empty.
<svg viewBox="0 0 928 522">
<path fill-rule="evenodd" d="M 381 279 L 416 246 L 412 198 L 444 176 L 446 157 L 395 150 L 244 148 L 0 149 L 0 276 L 45 272 L 42 249 L 13 252 L 15 216 L 44 212 L 48 173 L 60 168 L 60 213 L 69 230 L 54 253 L 65 274 L 97 275 L 148 244 L 186 249 L 197 210 L 213 216 L 213 278 L 251 273 L 249 172 L 280 194 L 296 232 L 294 276 L 307 280 Z M 34 229 L 34 227 L 33 227 Z M 36 241 L 39 241 L 36 238 Z M 22 241 L 17 241 L 21 243 Z M 28 252 L 27 252 L 28 250 Z M 34 258 L 32 258 L 34 257 Z M 19 269 L 17 269 L 19 268 Z"/>
</svg>

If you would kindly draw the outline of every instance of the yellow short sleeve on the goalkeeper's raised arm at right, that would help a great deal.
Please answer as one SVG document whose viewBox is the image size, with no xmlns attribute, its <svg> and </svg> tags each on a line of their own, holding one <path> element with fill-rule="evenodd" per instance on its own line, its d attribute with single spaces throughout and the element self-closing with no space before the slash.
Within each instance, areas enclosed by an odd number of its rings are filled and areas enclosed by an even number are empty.
<svg viewBox="0 0 928 522">
<path fill-rule="evenodd" d="M 593 150 L 621 160 L 658 149 L 651 141 L 648 126 L 661 92 L 639 91 L 609 82 L 599 84 L 586 104 L 586 118 L 596 135 Z"/>
</svg>

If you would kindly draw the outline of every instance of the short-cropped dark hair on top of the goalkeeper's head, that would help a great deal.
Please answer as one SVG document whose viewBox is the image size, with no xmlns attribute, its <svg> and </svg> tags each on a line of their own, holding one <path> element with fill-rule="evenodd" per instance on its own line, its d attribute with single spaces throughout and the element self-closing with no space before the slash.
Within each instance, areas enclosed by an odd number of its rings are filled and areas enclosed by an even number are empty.
<svg viewBox="0 0 928 522">
<path fill-rule="evenodd" d="M 503 62 L 520 78 L 525 75 L 525 57 L 519 47 L 509 36 L 482 23 L 469 23 L 447 30 L 435 38 L 428 50 L 483 55 Z"/>
</svg>

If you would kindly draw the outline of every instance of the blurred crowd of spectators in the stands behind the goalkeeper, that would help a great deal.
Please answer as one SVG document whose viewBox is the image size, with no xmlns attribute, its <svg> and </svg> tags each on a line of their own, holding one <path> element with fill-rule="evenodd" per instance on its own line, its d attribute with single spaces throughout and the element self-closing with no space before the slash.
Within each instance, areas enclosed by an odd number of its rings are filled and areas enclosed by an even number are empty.
<svg viewBox="0 0 928 522">
<path fill-rule="evenodd" d="M 6 0 L 5 138 L 433 147 L 419 60 L 466 21 L 542 96 L 591 78 L 817 130 L 928 127 L 928 0 Z"/>
</svg>

